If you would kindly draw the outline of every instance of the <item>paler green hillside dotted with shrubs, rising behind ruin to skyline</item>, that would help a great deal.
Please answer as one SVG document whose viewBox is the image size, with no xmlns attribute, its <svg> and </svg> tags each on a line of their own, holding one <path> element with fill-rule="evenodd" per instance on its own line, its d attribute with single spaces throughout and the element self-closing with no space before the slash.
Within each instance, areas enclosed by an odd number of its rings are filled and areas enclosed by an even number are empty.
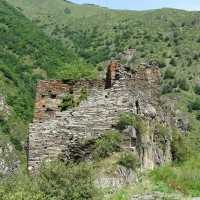
<svg viewBox="0 0 200 200">
<path fill-rule="evenodd" d="M 135 48 L 137 53 L 131 67 L 141 62 L 156 62 L 163 72 L 162 93 L 178 99 L 178 108 L 188 112 L 188 106 L 196 103 L 192 99 L 198 101 L 199 12 L 115 11 L 62 0 L 7 1 L 50 37 L 62 41 L 90 63 L 100 65 L 124 49 Z M 196 111 L 189 114 L 191 130 L 198 133 L 199 123 L 195 118 L 199 116 L 199 108 L 192 110 Z"/>
</svg>

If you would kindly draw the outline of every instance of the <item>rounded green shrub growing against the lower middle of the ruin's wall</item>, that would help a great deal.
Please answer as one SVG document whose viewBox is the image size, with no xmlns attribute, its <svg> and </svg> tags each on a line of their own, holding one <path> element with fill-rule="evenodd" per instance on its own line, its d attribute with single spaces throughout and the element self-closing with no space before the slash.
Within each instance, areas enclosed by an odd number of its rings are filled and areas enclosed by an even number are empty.
<svg viewBox="0 0 200 200">
<path fill-rule="evenodd" d="M 94 146 L 93 157 L 98 160 L 120 151 L 122 138 L 119 132 L 108 132 L 99 138 Z"/>
</svg>

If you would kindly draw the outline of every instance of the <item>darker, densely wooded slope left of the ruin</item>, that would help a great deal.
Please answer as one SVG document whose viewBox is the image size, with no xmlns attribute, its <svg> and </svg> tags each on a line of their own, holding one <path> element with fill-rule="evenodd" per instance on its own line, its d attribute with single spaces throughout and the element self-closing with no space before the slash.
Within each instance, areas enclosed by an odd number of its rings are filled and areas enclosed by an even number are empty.
<svg viewBox="0 0 200 200">
<path fill-rule="evenodd" d="M 2 0 L 0 38 L 1 147 L 4 148 L 3 144 L 7 141 L 23 151 L 27 124 L 32 119 L 36 81 L 56 78 L 57 72 L 65 65 L 69 71 L 74 60 L 76 67 L 80 63 L 84 65 L 84 62 L 64 48 L 61 42 L 49 39 L 30 20 Z M 9 107 L 9 112 L 4 111 L 5 106 Z"/>
</svg>

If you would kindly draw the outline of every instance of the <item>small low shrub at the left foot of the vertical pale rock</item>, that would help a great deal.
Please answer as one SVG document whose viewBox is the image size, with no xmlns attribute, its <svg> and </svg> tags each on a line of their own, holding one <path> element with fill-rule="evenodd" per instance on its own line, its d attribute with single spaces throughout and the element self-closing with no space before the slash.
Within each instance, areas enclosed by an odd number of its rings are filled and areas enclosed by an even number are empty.
<svg viewBox="0 0 200 200">
<path fill-rule="evenodd" d="M 137 167 L 139 167 L 139 160 L 133 152 L 123 153 L 117 163 L 126 167 L 127 169 L 132 170 L 135 170 Z"/>
</svg>

